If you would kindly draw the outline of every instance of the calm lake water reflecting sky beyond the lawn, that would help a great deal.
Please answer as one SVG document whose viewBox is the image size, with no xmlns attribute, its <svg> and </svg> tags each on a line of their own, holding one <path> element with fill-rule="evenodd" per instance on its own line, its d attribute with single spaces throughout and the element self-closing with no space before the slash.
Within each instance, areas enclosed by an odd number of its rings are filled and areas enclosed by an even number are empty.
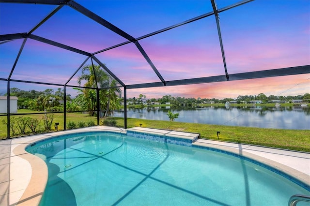
<svg viewBox="0 0 310 206">
<path fill-rule="evenodd" d="M 310 107 L 145 107 L 127 109 L 127 118 L 169 120 L 167 113 L 179 113 L 175 122 L 190 122 L 229 126 L 277 129 L 310 129 Z M 114 117 L 124 117 L 124 112 L 113 112 Z"/>
</svg>

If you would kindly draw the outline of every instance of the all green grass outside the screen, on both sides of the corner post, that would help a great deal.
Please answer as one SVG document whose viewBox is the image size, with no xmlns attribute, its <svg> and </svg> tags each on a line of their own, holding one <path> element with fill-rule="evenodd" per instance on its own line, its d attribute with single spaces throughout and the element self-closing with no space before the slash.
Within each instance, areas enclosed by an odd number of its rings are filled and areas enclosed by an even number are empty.
<svg viewBox="0 0 310 206">
<path fill-rule="evenodd" d="M 18 110 L 18 113 L 34 113 L 34 111 Z M 85 121 L 92 120 L 95 125 L 97 124 L 96 117 L 90 117 L 88 114 L 81 113 L 66 113 L 66 121 Z M 25 115 L 31 118 L 42 119 L 44 114 L 38 112 L 37 115 Z M 12 116 L 11 116 L 12 117 Z M 14 116 L 18 117 L 18 116 Z M 0 117 L 0 139 L 5 139 L 7 136 L 6 125 L 2 124 L 2 119 L 6 119 L 5 116 Z M 114 119 L 117 127 L 124 128 L 124 118 L 107 118 L 109 120 Z M 100 119 L 102 122 L 104 119 Z M 59 122 L 58 130 L 63 130 L 63 114 L 54 114 L 54 120 L 52 129 L 54 129 L 54 123 Z M 266 147 L 276 147 L 283 149 L 291 149 L 297 151 L 310 152 L 310 130 L 283 130 L 283 129 L 264 129 L 253 127 L 237 127 L 237 126 L 220 126 L 211 124 L 198 124 L 198 123 L 185 123 L 185 122 L 171 122 L 160 120 L 147 120 L 127 118 L 127 128 L 131 127 L 148 127 L 156 129 L 174 130 L 182 132 L 195 132 L 200 133 L 201 138 L 217 140 L 217 131 L 220 132 L 219 140 L 229 141 L 243 144 L 251 144 Z M 40 127 L 43 131 L 43 122 L 41 121 Z"/>
</svg>

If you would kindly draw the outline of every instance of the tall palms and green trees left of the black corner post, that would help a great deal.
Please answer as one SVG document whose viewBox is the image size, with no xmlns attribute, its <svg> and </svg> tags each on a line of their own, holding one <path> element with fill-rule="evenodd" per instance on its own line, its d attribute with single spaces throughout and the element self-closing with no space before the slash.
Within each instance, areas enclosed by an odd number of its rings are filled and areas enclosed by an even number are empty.
<svg viewBox="0 0 310 206">
<path fill-rule="evenodd" d="M 66 94 L 66 111 L 89 111 L 90 116 L 95 115 L 97 110 L 97 91 L 91 88 L 103 88 L 99 90 L 100 116 L 107 117 L 109 111 L 119 109 L 121 106 L 122 90 L 117 87 L 117 81 L 100 68 L 100 65 L 86 65 L 78 76 L 78 85 L 87 88 L 74 88 L 78 95 L 72 98 Z M 5 94 L 6 96 L 7 94 Z M 17 106 L 20 109 L 34 111 L 63 111 L 64 91 L 63 88 L 48 88 L 44 91 L 29 91 L 19 88 L 10 88 L 10 96 L 18 97 Z"/>
</svg>

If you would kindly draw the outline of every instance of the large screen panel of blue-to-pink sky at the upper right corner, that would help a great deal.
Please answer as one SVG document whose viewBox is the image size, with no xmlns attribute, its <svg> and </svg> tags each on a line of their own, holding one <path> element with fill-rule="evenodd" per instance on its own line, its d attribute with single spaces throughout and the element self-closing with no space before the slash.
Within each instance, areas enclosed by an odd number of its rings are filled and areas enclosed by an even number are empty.
<svg viewBox="0 0 310 206">
<path fill-rule="evenodd" d="M 309 65 L 309 6 L 260 0 L 221 12 L 228 73 Z"/>
</svg>

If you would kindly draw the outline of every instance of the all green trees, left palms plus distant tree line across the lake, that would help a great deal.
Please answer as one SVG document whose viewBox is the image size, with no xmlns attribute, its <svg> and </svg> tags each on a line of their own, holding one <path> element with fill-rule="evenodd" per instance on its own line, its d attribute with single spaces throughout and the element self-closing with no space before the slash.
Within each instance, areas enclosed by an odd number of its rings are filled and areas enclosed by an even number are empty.
<svg viewBox="0 0 310 206">
<path fill-rule="evenodd" d="M 100 68 L 100 65 L 86 65 L 81 70 L 81 75 L 78 76 L 78 85 L 81 86 L 82 82 L 86 88 L 74 88 L 78 91 L 78 95 L 72 98 L 70 94 L 66 94 L 64 97 L 63 88 L 57 90 L 48 88 L 44 91 L 36 91 L 31 89 L 29 91 L 19 88 L 11 88 L 10 96 L 18 97 L 18 108 L 35 110 L 35 111 L 63 111 L 64 110 L 64 98 L 66 99 L 66 111 L 89 111 L 91 116 L 95 115 L 97 110 L 97 91 L 91 88 L 102 88 L 99 90 L 100 101 L 100 117 L 103 117 L 101 111 L 104 112 L 104 116 L 107 117 L 112 110 L 118 110 L 121 108 L 122 90 L 118 88 L 117 81 L 113 79 L 109 74 Z M 224 98 L 224 99 L 208 99 L 208 98 L 185 98 L 185 97 L 173 97 L 171 95 L 165 95 L 161 98 L 147 99 L 146 95 L 140 94 L 139 97 L 133 97 L 127 99 L 128 104 L 166 104 L 172 105 L 192 105 L 199 103 L 226 103 L 236 100 L 237 103 L 249 103 L 252 100 L 260 100 L 262 103 L 267 103 L 271 100 L 279 100 L 290 102 L 294 99 L 310 100 L 310 94 L 297 96 L 266 96 L 263 93 L 258 95 L 239 95 L 237 99 Z"/>
</svg>

